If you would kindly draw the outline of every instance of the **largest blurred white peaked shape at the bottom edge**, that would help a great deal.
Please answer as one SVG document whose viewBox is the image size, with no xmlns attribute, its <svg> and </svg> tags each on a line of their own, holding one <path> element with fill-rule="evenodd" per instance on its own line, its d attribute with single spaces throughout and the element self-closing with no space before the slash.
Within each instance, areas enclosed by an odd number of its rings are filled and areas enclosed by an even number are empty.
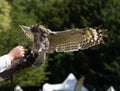
<svg viewBox="0 0 120 91">
<path fill-rule="evenodd" d="M 70 73 L 63 83 L 43 85 L 43 91 L 74 91 L 74 87 L 77 83 L 76 77 Z"/>
</svg>

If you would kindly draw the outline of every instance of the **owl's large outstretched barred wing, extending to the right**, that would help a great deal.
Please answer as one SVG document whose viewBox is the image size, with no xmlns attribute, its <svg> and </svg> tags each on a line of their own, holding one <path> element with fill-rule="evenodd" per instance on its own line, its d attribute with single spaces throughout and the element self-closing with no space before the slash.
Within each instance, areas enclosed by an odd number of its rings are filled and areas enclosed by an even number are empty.
<svg viewBox="0 0 120 91">
<path fill-rule="evenodd" d="M 87 49 L 103 43 L 106 37 L 104 30 L 85 28 L 70 29 L 67 31 L 51 33 L 49 35 L 50 47 L 48 52 L 72 52 Z"/>
</svg>

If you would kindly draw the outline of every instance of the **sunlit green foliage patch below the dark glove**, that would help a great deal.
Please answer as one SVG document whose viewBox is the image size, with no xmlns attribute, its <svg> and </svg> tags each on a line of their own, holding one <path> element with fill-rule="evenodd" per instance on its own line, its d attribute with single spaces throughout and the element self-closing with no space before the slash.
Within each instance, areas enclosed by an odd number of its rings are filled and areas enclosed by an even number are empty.
<svg viewBox="0 0 120 91">
<path fill-rule="evenodd" d="M 46 65 L 44 65 L 46 66 Z M 14 84 L 19 84 L 20 86 L 40 86 L 48 78 L 46 75 L 50 74 L 45 71 L 45 67 L 30 67 L 19 72 L 19 74 L 14 75 Z"/>
</svg>

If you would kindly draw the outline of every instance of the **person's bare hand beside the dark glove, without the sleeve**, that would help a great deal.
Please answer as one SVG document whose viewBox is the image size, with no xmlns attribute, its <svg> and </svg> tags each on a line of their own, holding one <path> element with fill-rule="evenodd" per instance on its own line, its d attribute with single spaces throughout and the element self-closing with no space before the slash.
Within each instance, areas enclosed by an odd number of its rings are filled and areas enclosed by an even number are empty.
<svg viewBox="0 0 120 91">
<path fill-rule="evenodd" d="M 19 58 L 24 57 L 24 48 L 23 46 L 17 46 L 13 48 L 9 53 L 8 56 L 10 57 L 11 61 L 17 60 Z"/>
</svg>

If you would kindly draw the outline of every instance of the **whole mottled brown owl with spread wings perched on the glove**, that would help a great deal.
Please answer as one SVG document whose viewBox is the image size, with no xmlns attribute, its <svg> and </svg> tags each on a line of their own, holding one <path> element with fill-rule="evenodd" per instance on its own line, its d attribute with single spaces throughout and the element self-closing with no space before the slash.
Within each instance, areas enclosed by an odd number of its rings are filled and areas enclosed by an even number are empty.
<svg viewBox="0 0 120 91">
<path fill-rule="evenodd" d="M 73 52 L 84 50 L 104 42 L 105 29 L 84 28 L 53 32 L 42 25 L 20 26 L 33 42 L 33 52 L 38 53 L 35 66 L 43 64 L 47 52 Z"/>
</svg>

